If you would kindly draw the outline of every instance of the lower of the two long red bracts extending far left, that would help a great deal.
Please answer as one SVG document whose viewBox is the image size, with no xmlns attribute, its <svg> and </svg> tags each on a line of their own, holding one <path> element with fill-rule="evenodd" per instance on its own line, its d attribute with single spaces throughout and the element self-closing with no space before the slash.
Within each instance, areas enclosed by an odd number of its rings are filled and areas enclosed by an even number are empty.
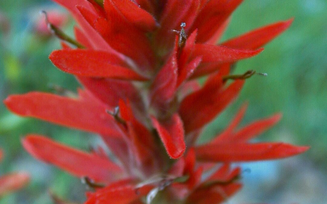
<svg viewBox="0 0 327 204">
<path fill-rule="evenodd" d="M 121 168 L 108 159 L 64 146 L 40 135 L 27 135 L 22 143 L 35 158 L 78 177 L 87 176 L 97 182 L 108 182 L 122 173 Z"/>
</svg>

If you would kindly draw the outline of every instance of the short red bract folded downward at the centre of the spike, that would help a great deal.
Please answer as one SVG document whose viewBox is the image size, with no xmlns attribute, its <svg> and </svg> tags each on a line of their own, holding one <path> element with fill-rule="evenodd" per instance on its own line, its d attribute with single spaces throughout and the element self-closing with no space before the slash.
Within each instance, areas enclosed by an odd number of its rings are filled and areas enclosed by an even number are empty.
<svg viewBox="0 0 327 204">
<path fill-rule="evenodd" d="M 157 129 L 168 155 L 173 159 L 181 157 L 186 149 L 181 118 L 174 114 L 170 121 L 163 124 L 154 117 L 151 117 L 151 121 Z"/>
</svg>

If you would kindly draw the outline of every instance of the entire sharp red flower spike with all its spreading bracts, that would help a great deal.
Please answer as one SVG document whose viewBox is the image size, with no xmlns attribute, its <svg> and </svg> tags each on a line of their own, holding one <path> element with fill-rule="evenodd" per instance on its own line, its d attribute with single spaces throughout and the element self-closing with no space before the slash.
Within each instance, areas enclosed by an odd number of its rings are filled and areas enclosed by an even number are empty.
<svg viewBox="0 0 327 204">
<path fill-rule="evenodd" d="M 95 192 L 87 194 L 87 204 L 149 203 L 157 194 L 168 203 L 219 203 L 242 187 L 241 170 L 232 162 L 280 159 L 308 149 L 251 143 L 281 115 L 237 129 L 246 106 L 212 141 L 196 144 L 254 73 L 231 75 L 231 65 L 259 54 L 292 20 L 215 45 L 242 0 L 55 1 L 79 24 L 78 43 L 68 40 L 78 49 L 62 43 L 50 60 L 76 75 L 83 89 L 75 98 L 12 95 L 5 104 L 21 116 L 101 136 L 116 164 L 102 148 L 82 152 L 40 135 L 22 140 L 34 157 L 103 184 L 88 180 Z M 196 79 L 205 75 L 200 86 Z"/>
</svg>

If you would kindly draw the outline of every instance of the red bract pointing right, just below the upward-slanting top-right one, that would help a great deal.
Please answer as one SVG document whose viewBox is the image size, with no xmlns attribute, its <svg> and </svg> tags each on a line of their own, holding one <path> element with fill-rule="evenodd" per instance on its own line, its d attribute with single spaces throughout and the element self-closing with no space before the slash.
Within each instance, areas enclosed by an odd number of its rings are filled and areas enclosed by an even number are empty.
<svg viewBox="0 0 327 204">
<path fill-rule="evenodd" d="M 202 56 L 202 62 L 226 63 L 258 55 L 264 49 L 232 49 L 222 45 L 195 44 L 193 56 Z"/>
</svg>

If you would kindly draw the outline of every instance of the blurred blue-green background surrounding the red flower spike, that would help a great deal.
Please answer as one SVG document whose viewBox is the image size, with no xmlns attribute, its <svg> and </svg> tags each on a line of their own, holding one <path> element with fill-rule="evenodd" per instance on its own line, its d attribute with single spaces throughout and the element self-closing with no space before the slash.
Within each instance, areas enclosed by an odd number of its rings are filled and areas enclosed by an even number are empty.
<svg viewBox="0 0 327 204">
<path fill-rule="evenodd" d="M 75 91 L 75 78 L 55 68 L 48 59 L 60 48 L 53 37 L 40 36 L 34 24 L 40 10 L 61 9 L 50 1 L 0 1 L 0 100 L 8 95 L 33 90 L 54 92 L 52 85 Z M 235 73 L 247 70 L 268 73 L 248 79 L 240 97 L 204 131 L 200 142 L 219 133 L 243 102 L 249 102 L 242 122 L 282 112 L 282 120 L 262 134 L 259 141 L 284 141 L 310 145 L 297 157 L 280 161 L 242 164 L 244 189 L 229 203 L 327 203 L 327 1 L 326 0 L 246 0 L 232 15 L 223 39 L 253 28 L 294 17 L 292 26 L 265 46 L 260 55 L 237 63 Z M 72 35 L 74 22 L 63 28 Z M 67 145 L 88 150 L 101 143 L 95 135 L 15 116 L 0 104 L 0 147 L 5 156 L 0 175 L 25 170 L 30 184 L 4 196 L 2 203 L 52 203 L 51 190 L 74 201 L 84 199 L 85 187 L 79 179 L 41 163 L 21 146 L 28 133 L 44 134 Z"/>
</svg>

